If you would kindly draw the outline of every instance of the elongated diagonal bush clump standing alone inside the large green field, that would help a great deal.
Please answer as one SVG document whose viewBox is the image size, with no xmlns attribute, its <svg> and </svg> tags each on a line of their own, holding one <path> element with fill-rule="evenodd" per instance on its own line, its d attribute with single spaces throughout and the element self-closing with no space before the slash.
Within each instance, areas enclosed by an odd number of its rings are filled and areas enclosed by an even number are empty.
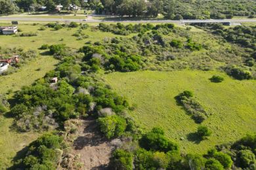
<svg viewBox="0 0 256 170">
<path fill-rule="evenodd" d="M 190 91 L 184 91 L 175 97 L 177 103 L 182 105 L 184 110 L 192 116 L 193 120 L 200 124 L 205 120 L 209 114 L 205 112 L 202 105 L 198 103 L 193 97 L 193 93 Z"/>
</svg>

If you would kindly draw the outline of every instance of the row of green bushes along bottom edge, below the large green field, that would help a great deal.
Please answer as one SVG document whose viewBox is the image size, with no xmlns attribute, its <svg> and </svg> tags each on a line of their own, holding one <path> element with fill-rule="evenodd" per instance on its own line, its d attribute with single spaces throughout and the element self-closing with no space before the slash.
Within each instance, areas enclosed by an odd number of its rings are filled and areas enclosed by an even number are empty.
<svg viewBox="0 0 256 170">
<path fill-rule="evenodd" d="M 142 135 L 140 147 L 121 147 L 113 152 L 112 169 L 228 169 L 233 160 L 230 152 L 211 149 L 205 155 L 181 154 L 177 144 L 169 141 L 160 127 Z M 134 166 L 133 168 L 131 166 Z"/>
</svg>

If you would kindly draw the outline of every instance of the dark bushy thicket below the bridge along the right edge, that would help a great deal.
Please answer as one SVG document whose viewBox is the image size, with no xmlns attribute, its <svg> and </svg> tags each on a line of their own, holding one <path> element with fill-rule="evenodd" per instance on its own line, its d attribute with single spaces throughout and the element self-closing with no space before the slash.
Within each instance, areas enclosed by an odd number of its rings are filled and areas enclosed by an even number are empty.
<svg viewBox="0 0 256 170">
<path fill-rule="evenodd" d="M 240 54 L 243 57 L 244 62 L 239 65 L 227 65 L 224 68 L 226 73 L 238 80 L 254 78 L 253 72 L 255 72 L 255 50 L 256 50 L 256 27 L 238 25 L 235 27 L 224 28 L 223 24 L 196 24 L 200 25 L 200 28 L 210 31 L 214 34 L 221 35 L 223 39 L 234 44 L 238 44 L 245 48 L 244 54 Z"/>
</svg>

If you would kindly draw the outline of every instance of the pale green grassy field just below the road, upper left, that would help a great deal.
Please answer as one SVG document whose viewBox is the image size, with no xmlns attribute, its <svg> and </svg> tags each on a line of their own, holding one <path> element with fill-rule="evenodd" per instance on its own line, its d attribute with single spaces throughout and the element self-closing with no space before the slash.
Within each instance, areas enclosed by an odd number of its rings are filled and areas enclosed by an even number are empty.
<svg viewBox="0 0 256 170">
<path fill-rule="evenodd" d="M 3 24 L 0 25 L 10 25 Z M 105 37 L 119 37 L 112 33 L 104 33 L 101 31 L 91 31 L 91 29 L 83 30 L 83 33 L 89 35 L 89 38 L 83 39 L 81 41 L 77 41 L 77 37 L 72 36 L 77 28 L 63 28 L 58 31 L 55 31 L 53 28 L 48 28 L 44 31 L 39 31 L 39 27 L 43 26 L 43 24 L 22 24 L 18 25 L 18 27 L 22 30 L 23 33 L 28 32 L 37 32 L 37 36 L 35 37 L 15 37 L 15 35 L 0 35 L 0 46 L 2 47 L 21 47 L 24 49 L 33 49 L 37 50 L 42 44 L 67 44 L 67 46 L 73 48 L 82 47 L 87 41 L 100 41 Z M 130 35 L 132 36 L 132 34 Z"/>
</svg>

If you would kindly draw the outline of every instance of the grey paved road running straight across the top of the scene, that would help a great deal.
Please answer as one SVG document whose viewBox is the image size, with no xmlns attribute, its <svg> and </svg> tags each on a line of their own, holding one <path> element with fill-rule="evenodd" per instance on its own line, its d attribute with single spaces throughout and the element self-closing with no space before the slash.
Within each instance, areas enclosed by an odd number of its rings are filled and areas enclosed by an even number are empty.
<svg viewBox="0 0 256 170">
<path fill-rule="evenodd" d="M 256 22 L 256 19 L 225 19 L 225 20 L 94 20 L 89 18 L 86 21 L 83 19 L 58 19 L 58 18 L 30 18 L 30 17 L 15 17 L 15 16 L 0 16 L 0 21 L 28 21 L 28 22 L 134 22 L 134 23 L 241 23 L 241 22 Z"/>
</svg>

